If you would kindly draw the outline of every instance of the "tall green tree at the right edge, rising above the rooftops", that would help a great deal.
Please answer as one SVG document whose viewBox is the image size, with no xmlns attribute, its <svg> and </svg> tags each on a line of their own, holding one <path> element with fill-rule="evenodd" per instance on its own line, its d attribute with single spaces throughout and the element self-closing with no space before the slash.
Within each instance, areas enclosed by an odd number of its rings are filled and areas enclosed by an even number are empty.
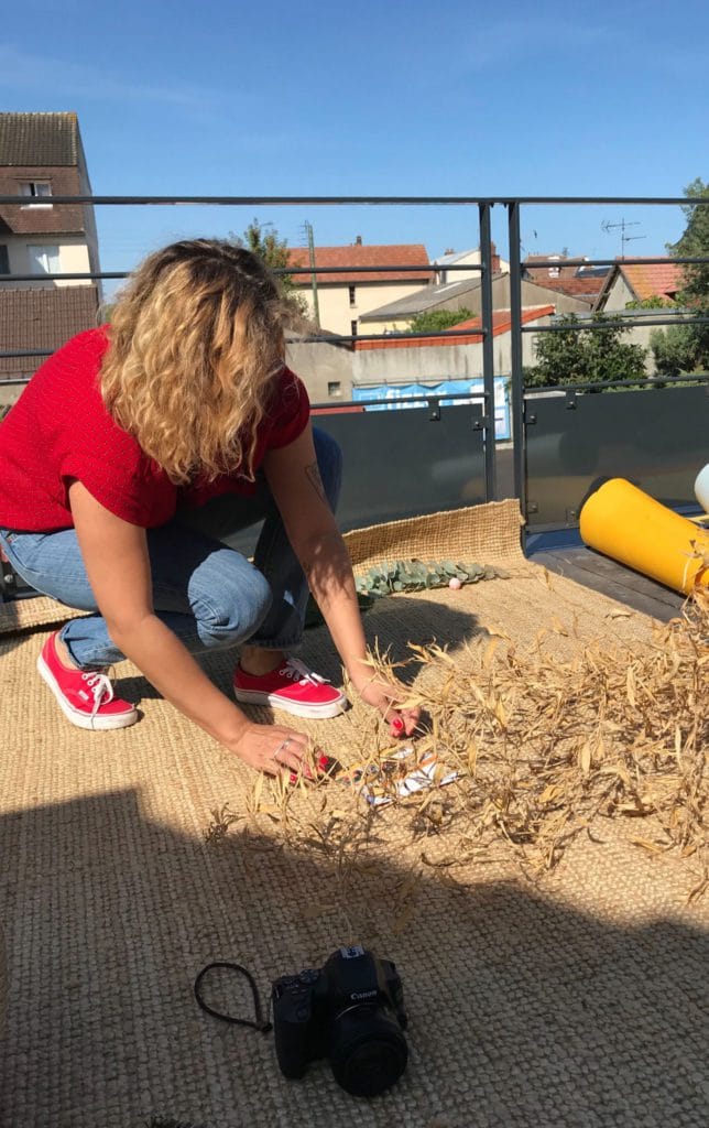
<svg viewBox="0 0 709 1128">
<path fill-rule="evenodd" d="M 699 177 L 684 190 L 688 200 L 709 197 L 709 184 Z M 676 258 L 709 257 L 709 204 L 683 204 L 684 233 L 667 250 Z M 677 305 L 699 317 L 709 317 L 709 263 L 688 263 Z M 673 325 L 650 337 L 657 371 L 663 376 L 709 369 L 709 325 Z"/>
</svg>

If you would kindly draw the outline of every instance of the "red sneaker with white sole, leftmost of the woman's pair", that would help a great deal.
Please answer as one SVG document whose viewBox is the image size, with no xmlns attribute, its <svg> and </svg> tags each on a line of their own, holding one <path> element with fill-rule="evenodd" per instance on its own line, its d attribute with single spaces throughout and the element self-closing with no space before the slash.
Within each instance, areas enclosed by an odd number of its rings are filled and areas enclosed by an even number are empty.
<svg viewBox="0 0 709 1128">
<path fill-rule="evenodd" d="M 56 697 L 64 715 L 79 729 L 125 729 L 138 721 L 136 710 L 114 698 L 104 670 L 68 670 L 50 635 L 37 659 L 37 670 Z"/>
</svg>

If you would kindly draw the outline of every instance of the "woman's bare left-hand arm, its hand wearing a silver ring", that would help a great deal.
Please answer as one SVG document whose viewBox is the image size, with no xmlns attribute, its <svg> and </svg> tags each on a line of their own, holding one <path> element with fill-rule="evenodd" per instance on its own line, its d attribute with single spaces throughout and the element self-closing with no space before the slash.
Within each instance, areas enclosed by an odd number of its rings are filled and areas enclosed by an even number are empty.
<svg viewBox="0 0 709 1128">
<path fill-rule="evenodd" d="M 105 509 L 80 483 L 69 500 L 81 555 L 113 642 L 180 713 L 252 767 L 298 769 L 305 740 L 281 725 L 255 725 L 206 677 L 152 606 L 145 530 Z M 285 739 L 287 751 L 274 754 Z"/>
</svg>

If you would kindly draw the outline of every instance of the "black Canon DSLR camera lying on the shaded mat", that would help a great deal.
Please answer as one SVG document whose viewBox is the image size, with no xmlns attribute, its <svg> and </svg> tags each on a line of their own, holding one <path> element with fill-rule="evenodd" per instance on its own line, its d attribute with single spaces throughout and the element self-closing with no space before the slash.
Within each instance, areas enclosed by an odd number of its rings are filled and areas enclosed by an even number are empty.
<svg viewBox="0 0 709 1128">
<path fill-rule="evenodd" d="M 340 948 L 320 970 L 281 976 L 272 990 L 278 1065 L 302 1077 L 328 1057 L 336 1081 L 355 1096 L 375 1096 L 399 1079 L 408 1048 L 397 969 L 363 948 Z"/>
</svg>

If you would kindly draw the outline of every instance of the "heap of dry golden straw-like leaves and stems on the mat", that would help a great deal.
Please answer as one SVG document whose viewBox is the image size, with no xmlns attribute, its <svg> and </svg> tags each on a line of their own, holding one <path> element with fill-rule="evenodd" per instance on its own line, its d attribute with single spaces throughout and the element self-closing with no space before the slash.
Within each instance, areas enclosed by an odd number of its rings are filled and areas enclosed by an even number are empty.
<svg viewBox="0 0 709 1128">
<path fill-rule="evenodd" d="M 415 847 L 414 876 L 423 865 L 466 881 L 477 864 L 506 857 L 539 880 L 602 818 L 632 820 L 635 846 L 685 860 L 688 898 L 700 897 L 709 884 L 709 593 L 656 627 L 649 645 L 603 641 L 567 658 L 555 645 L 564 633 L 556 623 L 528 652 L 502 633 L 454 654 L 410 645 L 423 669 L 408 704 L 427 714 L 416 750 L 435 750 L 441 777 L 460 773 L 454 784 L 375 810 L 337 777 L 314 792 L 262 778 L 251 817 L 329 857 L 343 906 L 349 871 L 375 864 L 382 836 L 389 848 L 392 836 Z M 385 655 L 371 662 L 373 676 L 396 672 Z M 344 766 L 369 767 L 385 785 L 390 754 L 373 725 Z"/>
</svg>

